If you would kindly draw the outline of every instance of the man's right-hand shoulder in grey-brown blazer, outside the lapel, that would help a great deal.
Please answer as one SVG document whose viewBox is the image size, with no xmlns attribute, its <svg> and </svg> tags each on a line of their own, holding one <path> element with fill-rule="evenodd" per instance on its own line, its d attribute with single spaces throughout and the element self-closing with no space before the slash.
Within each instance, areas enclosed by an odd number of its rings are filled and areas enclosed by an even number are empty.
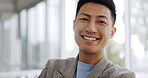
<svg viewBox="0 0 148 78">
<path fill-rule="evenodd" d="M 135 73 L 129 69 L 115 65 L 108 61 L 108 64 L 102 73 L 102 78 L 107 76 L 107 78 L 135 78 Z"/>
</svg>

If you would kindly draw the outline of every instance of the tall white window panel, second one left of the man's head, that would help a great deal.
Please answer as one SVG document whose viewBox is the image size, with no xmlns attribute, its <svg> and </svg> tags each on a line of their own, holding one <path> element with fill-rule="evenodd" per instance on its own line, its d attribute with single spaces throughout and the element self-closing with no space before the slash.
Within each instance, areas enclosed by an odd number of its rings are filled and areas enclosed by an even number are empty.
<svg viewBox="0 0 148 78">
<path fill-rule="evenodd" d="M 46 60 L 60 57 L 61 35 L 61 0 L 47 0 L 47 46 Z"/>
</svg>

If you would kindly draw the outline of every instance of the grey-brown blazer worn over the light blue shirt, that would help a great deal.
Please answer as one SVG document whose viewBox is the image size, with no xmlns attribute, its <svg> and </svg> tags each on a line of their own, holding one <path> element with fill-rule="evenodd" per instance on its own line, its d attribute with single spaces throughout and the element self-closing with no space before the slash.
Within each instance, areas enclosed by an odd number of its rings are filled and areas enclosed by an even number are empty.
<svg viewBox="0 0 148 78">
<path fill-rule="evenodd" d="M 78 58 L 49 60 L 38 78 L 74 78 Z M 135 78 L 134 72 L 114 65 L 104 56 L 95 64 L 87 78 Z"/>
</svg>

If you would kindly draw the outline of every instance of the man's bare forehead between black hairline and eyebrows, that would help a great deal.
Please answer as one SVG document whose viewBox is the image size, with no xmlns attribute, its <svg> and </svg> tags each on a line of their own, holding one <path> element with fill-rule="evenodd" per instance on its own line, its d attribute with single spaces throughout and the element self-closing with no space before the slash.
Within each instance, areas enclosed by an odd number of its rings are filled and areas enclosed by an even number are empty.
<svg viewBox="0 0 148 78">
<path fill-rule="evenodd" d="M 108 19 L 111 19 L 111 11 L 108 7 L 97 4 L 97 3 L 85 3 L 79 10 L 78 16 L 82 13 L 87 13 L 92 17 L 97 17 L 100 15 L 106 16 Z"/>
</svg>

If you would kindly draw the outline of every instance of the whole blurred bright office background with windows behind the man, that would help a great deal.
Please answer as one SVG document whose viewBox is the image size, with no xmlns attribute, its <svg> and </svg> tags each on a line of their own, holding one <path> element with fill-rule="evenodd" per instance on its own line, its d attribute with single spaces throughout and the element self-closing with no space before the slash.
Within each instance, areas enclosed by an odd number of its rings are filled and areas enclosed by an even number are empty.
<svg viewBox="0 0 148 78">
<path fill-rule="evenodd" d="M 148 0 L 114 0 L 117 32 L 105 48 L 113 63 L 148 78 Z M 77 0 L 0 0 L 0 78 L 36 78 L 48 59 L 78 54 Z"/>
</svg>

